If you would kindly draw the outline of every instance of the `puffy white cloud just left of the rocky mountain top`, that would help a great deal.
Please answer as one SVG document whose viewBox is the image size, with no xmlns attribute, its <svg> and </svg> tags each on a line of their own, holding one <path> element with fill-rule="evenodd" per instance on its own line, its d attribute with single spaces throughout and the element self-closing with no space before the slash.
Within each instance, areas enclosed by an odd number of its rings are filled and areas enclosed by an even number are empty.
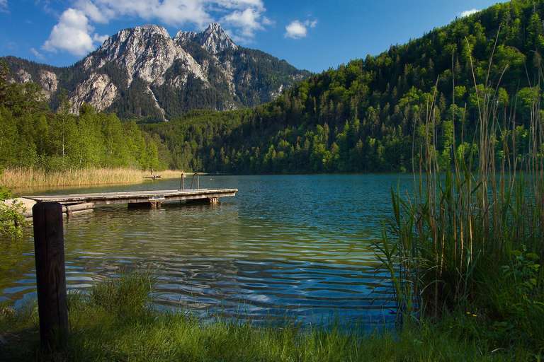
<svg viewBox="0 0 544 362">
<path fill-rule="evenodd" d="M 48 52 L 62 50 L 77 56 L 85 55 L 95 48 L 95 40 L 91 37 L 93 30 L 83 11 L 68 8 L 60 16 L 59 23 L 51 30 L 42 49 Z"/>
</svg>

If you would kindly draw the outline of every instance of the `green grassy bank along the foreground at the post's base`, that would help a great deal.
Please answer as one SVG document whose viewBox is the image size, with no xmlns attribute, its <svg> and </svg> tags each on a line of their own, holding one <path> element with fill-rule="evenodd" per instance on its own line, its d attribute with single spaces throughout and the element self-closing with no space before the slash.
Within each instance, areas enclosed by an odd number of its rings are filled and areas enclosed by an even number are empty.
<svg viewBox="0 0 544 362">
<path fill-rule="evenodd" d="M 69 298 L 67 351 L 39 351 L 35 305 L 0 308 L 1 361 L 528 361 L 525 349 L 494 351 L 465 339 L 464 329 L 422 323 L 400 334 L 353 329 L 254 327 L 217 320 L 203 323 L 183 313 L 149 308 L 152 284 L 126 275 Z M 448 319 L 476 327 L 472 316 Z M 1 339 L 0 339 L 1 340 Z"/>
</svg>

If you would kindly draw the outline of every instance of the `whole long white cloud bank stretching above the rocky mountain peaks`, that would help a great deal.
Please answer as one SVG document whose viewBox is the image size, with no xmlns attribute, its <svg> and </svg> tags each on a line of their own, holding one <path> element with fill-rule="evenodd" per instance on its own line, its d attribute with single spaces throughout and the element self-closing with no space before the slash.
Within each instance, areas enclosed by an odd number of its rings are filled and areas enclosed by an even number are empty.
<svg viewBox="0 0 544 362">
<path fill-rule="evenodd" d="M 62 13 L 42 49 L 87 54 L 107 38 L 94 33 L 91 23 L 128 17 L 198 28 L 219 19 L 229 27 L 233 39 L 251 42 L 256 31 L 273 24 L 265 11 L 263 0 L 74 0 L 74 7 Z"/>
</svg>

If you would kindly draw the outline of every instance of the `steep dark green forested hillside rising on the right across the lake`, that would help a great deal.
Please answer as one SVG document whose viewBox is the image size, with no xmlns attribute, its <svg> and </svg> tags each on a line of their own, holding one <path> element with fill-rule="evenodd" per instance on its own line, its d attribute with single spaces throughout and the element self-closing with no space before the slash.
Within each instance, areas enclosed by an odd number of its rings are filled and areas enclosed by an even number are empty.
<svg viewBox="0 0 544 362">
<path fill-rule="evenodd" d="M 497 4 L 404 45 L 300 81 L 253 110 L 190 112 L 146 126 L 171 150 L 171 166 L 224 173 L 411 170 L 427 115 L 441 165 L 450 146 L 477 149 L 480 109 L 502 139 L 531 140 L 542 99 L 544 1 Z M 492 59 L 492 62 L 489 61 Z M 477 86 L 475 86 L 477 83 Z M 484 95 L 486 97 L 484 98 Z M 501 128 L 502 128 L 501 127 Z M 414 163 L 412 163 L 412 161 Z"/>
</svg>

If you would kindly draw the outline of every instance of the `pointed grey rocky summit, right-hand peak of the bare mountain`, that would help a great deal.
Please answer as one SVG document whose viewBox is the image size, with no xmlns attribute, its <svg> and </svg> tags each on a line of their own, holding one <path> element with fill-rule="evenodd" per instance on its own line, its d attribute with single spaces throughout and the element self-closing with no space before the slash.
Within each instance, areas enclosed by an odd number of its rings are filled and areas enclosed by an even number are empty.
<svg viewBox="0 0 544 362">
<path fill-rule="evenodd" d="M 188 41 L 196 42 L 211 54 L 220 53 L 225 49 L 238 49 L 219 23 L 210 23 L 201 33 L 179 31 L 175 39 L 180 44 Z"/>
</svg>

